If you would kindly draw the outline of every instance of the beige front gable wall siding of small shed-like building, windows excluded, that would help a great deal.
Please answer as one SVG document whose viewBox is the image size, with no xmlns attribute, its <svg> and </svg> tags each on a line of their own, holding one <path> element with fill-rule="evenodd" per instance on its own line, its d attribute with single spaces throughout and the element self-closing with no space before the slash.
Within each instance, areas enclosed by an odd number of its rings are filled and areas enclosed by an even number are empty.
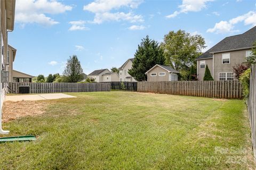
<svg viewBox="0 0 256 170">
<path fill-rule="evenodd" d="M 165 72 L 164 76 L 159 76 L 158 73 Z M 151 73 L 157 73 L 156 76 L 151 76 Z M 169 81 L 170 73 L 162 67 L 156 66 L 153 70 L 148 72 L 148 81 Z"/>
</svg>

